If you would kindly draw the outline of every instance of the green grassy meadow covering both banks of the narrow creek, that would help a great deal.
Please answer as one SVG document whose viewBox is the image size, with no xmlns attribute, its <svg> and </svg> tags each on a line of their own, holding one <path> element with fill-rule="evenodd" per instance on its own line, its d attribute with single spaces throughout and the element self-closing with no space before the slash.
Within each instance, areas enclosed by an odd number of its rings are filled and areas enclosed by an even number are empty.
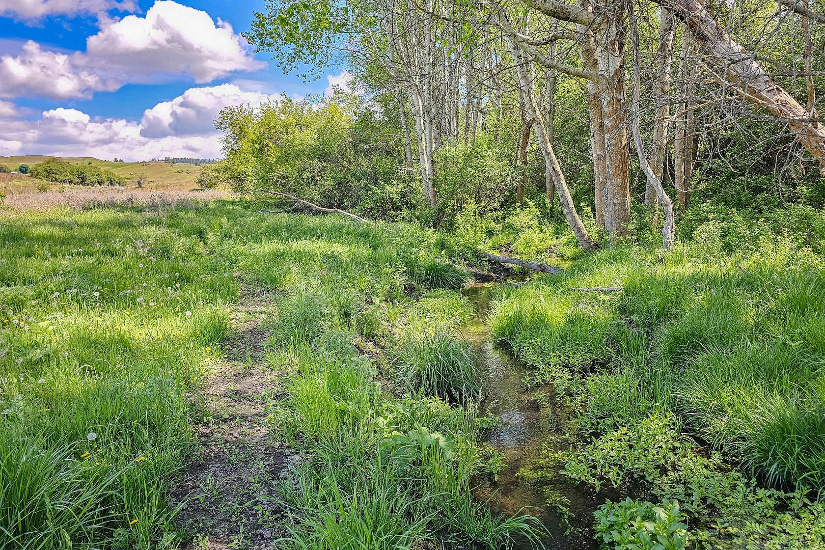
<svg viewBox="0 0 825 550">
<path fill-rule="evenodd" d="M 0 240 L 0 548 L 213 548 L 181 519 L 205 495 L 175 487 L 200 427 L 243 424 L 205 390 L 252 294 L 266 438 L 296 459 L 266 479 L 278 514 L 215 501 L 234 548 L 268 548 L 249 529 L 275 548 L 549 541 L 474 498 L 504 457 L 459 234 L 214 200 L 23 212 Z M 571 419 L 518 477 L 559 510 L 564 483 L 622 496 L 570 524 L 605 548 L 825 548 L 821 255 L 706 245 L 620 244 L 493 290 L 491 337 Z"/>
</svg>

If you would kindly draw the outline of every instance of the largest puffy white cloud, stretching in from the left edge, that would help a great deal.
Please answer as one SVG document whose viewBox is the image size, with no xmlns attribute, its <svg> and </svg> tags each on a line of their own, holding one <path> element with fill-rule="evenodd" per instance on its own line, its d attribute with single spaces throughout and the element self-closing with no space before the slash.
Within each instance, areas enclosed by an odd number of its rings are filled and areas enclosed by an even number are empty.
<svg viewBox="0 0 825 550">
<path fill-rule="evenodd" d="M 163 0 L 155 2 L 145 16 L 107 21 L 101 31 L 87 38 L 85 53 L 53 52 L 30 40 L 19 54 L 3 55 L 0 97 L 88 97 L 130 82 L 174 77 L 205 83 L 265 64 L 252 57 L 246 40 L 228 23 Z"/>
</svg>

